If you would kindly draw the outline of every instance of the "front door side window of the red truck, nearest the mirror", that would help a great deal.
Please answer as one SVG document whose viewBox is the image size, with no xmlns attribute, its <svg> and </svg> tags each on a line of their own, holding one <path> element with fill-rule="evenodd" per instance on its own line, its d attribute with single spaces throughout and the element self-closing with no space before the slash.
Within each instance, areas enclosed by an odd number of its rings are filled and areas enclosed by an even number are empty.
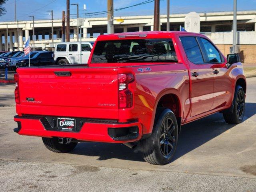
<svg viewBox="0 0 256 192">
<path fill-rule="evenodd" d="M 206 54 L 209 59 L 209 63 L 221 63 L 222 59 L 220 57 L 220 52 L 209 42 L 207 39 L 200 38 L 202 40 L 202 44 L 206 50 Z"/>
</svg>

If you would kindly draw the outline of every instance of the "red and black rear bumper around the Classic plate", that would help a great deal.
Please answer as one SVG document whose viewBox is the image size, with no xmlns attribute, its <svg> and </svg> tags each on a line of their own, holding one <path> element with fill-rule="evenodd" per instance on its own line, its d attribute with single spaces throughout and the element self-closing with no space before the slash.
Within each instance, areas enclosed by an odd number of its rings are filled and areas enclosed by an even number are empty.
<svg viewBox="0 0 256 192">
<path fill-rule="evenodd" d="M 15 128 L 14 132 L 28 136 L 63 137 L 111 143 L 134 142 L 142 138 L 142 125 L 139 121 L 120 123 L 114 120 L 76 118 L 77 131 L 70 132 L 58 130 L 54 118 L 56 117 L 14 116 L 14 121 L 18 122 L 18 128 Z"/>
</svg>

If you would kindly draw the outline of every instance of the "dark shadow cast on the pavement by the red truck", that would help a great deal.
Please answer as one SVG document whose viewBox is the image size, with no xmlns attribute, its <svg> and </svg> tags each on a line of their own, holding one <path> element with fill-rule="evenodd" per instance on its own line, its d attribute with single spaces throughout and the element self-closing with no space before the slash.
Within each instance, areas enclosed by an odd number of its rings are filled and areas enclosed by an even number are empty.
<svg viewBox="0 0 256 192">
<path fill-rule="evenodd" d="M 256 114 L 255 108 L 256 103 L 246 103 L 244 120 Z M 202 144 L 212 140 L 234 126 L 236 126 L 236 124 L 227 124 L 220 113 L 213 114 L 182 126 L 178 147 L 172 161 L 177 160 L 186 153 L 198 148 Z M 97 160 L 116 158 L 122 160 L 144 161 L 139 146 L 135 148 L 135 150 L 132 150 L 123 144 L 96 142 L 80 143 L 70 153 L 84 156 L 98 156 L 99 158 Z"/>
</svg>

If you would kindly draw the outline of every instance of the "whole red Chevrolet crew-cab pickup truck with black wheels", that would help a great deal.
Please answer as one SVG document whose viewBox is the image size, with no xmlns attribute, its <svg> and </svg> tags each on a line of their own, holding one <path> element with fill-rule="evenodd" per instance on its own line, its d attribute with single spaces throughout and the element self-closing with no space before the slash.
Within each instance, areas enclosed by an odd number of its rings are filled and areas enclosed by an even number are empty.
<svg viewBox="0 0 256 192">
<path fill-rule="evenodd" d="M 181 126 L 216 112 L 242 122 L 246 78 L 204 35 L 133 32 L 99 36 L 87 65 L 18 68 L 20 135 L 53 152 L 78 142 L 139 144 L 151 164 L 174 156 Z"/>
</svg>

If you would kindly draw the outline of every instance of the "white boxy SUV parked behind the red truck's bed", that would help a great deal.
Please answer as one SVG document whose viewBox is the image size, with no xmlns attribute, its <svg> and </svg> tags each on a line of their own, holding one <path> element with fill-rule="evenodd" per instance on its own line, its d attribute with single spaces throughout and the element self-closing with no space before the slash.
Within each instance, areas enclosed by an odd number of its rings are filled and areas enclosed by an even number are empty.
<svg viewBox="0 0 256 192">
<path fill-rule="evenodd" d="M 82 48 L 82 62 L 80 49 Z M 90 52 L 92 50 L 92 42 L 61 42 L 56 43 L 54 49 L 54 61 L 56 65 L 68 64 L 87 64 Z"/>
</svg>

